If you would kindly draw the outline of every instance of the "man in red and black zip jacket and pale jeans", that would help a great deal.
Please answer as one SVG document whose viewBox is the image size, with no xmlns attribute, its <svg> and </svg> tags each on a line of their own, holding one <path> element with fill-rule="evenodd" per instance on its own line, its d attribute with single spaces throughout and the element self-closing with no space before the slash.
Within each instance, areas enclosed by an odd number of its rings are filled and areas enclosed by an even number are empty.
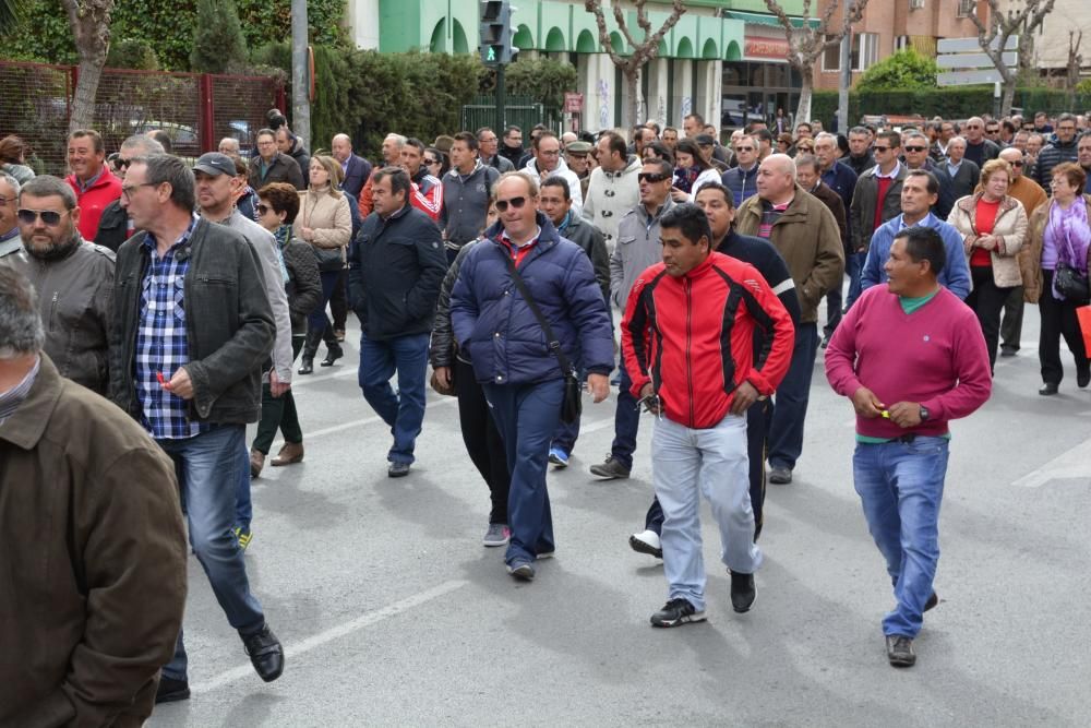
<svg viewBox="0 0 1091 728">
<path fill-rule="evenodd" d="M 711 251 L 712 231 L 696 205 L 660 223 L 663 262 L 637 278 L 622 322 L 631 392 L 659 417 L 651 437 L 652 479 L 663 509 L 667 605 L 655 626 L 705 619 L 699 496 L 720 527 L 731 572 L 731 605 L 754 604 L 754 544 L 746 454 L 746 409 L 768 397 L 792 357 L 792 319 L 747 263 Z M 754 357 L 754 331 L 766 334 Z"/>
</svg>

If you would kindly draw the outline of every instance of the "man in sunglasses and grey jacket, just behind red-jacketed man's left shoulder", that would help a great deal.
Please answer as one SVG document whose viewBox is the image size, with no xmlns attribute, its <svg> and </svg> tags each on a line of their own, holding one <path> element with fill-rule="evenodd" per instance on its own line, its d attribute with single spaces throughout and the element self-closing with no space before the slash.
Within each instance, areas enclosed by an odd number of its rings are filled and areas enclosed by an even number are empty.
<svg viewBox="0 0 1091 728">
<path fill-rule="evenodd" d="M 674 169 L 662 159 L 648 159 L 640 168 L 640 204 L 625 213 L 618 226 L 618 246 L 610 254 L 610 299 L 622 311 L 636 277 L 662 260 L 659 220 L 676 204 L 671 199 Z M 625 353 L 622 351 L 622 357 Z M 619 372 L 614 439 L 603 463 L 592 465 L 591 475 L 613 480 L 627 478 L 633 469 L 640 411 L 630 392 L 632 382 L 625 367 Z"/>
</svg>

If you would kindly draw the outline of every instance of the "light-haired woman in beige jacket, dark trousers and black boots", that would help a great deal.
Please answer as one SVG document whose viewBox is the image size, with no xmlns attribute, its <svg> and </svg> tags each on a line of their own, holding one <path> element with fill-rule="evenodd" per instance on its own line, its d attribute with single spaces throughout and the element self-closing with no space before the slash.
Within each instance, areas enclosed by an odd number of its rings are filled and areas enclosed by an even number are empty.
<svg viewBox="0 0 1091 728">
<path fill-rule="evenodd" d="M 322 274 L 322 301 L 307 320 L 300 374 L 314 371 L 314 355 L 323 338 L 326 342 L 323 367 L 331 367 L 345 356 L 326 317 L 326 305 L 345 267 L 345 249 L 352 237 L 352 213 L 345 193 L 340 191 L 340 163 L 333 157 L 321 154 L 311 157 L 311 183 L 305 192 L 299 193 L 300 213 L 292 224 L 295 236 L 310 243 Z"/>
</svg>

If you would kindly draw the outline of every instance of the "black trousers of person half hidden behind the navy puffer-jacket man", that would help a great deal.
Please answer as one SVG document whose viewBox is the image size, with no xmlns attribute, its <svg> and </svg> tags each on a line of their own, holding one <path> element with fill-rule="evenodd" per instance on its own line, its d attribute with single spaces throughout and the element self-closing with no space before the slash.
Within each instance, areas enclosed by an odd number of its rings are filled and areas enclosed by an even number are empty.
<svg viewBox="0 0 1091 728">
<path fill-rule="evenodd" d="M 492 511 L 489 523 L 507 523 L 507 493 L 512 488 L 512 474 L 507 469 L 507 454 L 504 440 L 500 437 L 496 422 L 489 414 L 489 403 L 484 390 L 475 379 L 473 367 L 455 360 L 455 394 L 458 397 L 458 425 L 463 430 L 463 442 L 473 466 L 489 486 Z"/>
</svg>

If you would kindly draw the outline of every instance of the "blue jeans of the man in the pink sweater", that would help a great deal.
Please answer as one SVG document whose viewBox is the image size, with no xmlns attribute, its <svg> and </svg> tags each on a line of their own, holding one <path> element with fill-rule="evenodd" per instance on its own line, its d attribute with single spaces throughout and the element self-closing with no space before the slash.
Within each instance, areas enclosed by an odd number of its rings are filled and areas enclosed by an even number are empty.
<svg viewBox="0 0 1091 728">
<path fill-rule="evenodd" d="M 947 475 L 948 442 L 859 443 L 852 477 L 867 529 L 887 562 L 897 606 L 883 618 L 884 634 L 915 637 L 939 560 L 939 502 Z"/>
</svg>

